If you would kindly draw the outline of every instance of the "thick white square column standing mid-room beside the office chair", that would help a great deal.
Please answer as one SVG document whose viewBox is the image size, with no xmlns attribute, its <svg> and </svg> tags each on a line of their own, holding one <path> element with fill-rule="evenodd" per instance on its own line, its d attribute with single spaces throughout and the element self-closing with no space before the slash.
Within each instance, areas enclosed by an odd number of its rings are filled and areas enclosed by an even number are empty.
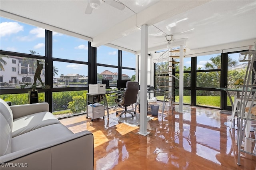
<svg viewBox="0 0 256 170">
<path fill-rule="evenodd" d="M 147 132 L 147 77 L 148 77 L 148 26 L 141 26 L 141 59 L 140 59 L 140 131 L 146 136 Z"/>
</svg>

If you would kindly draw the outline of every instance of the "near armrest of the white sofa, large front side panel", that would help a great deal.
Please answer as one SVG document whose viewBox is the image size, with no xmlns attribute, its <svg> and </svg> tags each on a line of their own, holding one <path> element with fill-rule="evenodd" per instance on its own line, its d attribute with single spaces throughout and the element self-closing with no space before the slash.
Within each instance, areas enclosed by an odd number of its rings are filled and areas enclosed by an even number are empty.
<svg viewBox="0 0 256 170">
<path fill-rule="evenodd" d="M 0 157 L 3 165 L 19 163 L 27 169 L 44 170 L 93 170 L 93 134 L 87 130 L 57 138 L 43 146 L 32 146 Z"/>
</svg>

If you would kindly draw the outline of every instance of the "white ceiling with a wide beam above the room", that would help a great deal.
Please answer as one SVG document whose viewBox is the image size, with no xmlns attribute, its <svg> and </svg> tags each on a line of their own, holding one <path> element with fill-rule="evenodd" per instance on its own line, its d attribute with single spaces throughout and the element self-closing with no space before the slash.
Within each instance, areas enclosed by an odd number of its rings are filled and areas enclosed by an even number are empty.
<svg viewBox="0 0 256 170">
<path fill-rule="evenodd" d="M 92 41 L 94 47 L 109 45 L 137 53 L 143 24 L 148 25 L 149 51 L 166 48 L 169 34 L 176 42 L 187 38 L 191 50 L 256 41 L 256 0 L 119 2 L 126 6 L 122 11 L 102 2 L 88 15 L 88 0 L 1 0 L 0 15 Z"/>
</svg>

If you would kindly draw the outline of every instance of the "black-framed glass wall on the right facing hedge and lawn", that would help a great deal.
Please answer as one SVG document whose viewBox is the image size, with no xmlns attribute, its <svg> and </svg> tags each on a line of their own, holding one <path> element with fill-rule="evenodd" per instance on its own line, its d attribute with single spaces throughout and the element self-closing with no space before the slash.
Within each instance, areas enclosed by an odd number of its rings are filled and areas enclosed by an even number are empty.
<svg viewBox="0 0 256 170">
<path fill-rule="evenodd" d="M 226 92 L 216 88 L 236 88 L 235 81 L 243 79 L 247 63 L 238 61 L 239 54 L 238 51 L 184 57 L 184 104 L 231 109 Z M 172 65 L 175 67 L 173 74 L 179 78 L 179 61 L 175 61 L 177 62 Z M 174 91 L 175 101 L 179 102 L 179 81 L 175 79 Z M 235 94 L 231 95 L 234 98 Z"/>
</svg>

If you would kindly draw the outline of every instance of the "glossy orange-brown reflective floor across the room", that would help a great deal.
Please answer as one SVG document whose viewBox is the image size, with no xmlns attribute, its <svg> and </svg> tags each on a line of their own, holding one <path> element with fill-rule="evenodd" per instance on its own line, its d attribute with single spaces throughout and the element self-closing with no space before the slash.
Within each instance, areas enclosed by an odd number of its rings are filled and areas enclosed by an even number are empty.
<svg viewBox="0 0 256 170">
<path fill-rule="evenodd" d="M 119 123 L 115 113 L 93 122 L 86 115 L 60 121 L 74 133 L 94 134 L 94 170 L 256 170 L 256 156 L 242 153 L 237 165 L 236 130 L 224 125 L 230 115 L 184 106 L 184 113 L 167 109 L 163 119 L 160 112 L 153 117 L 147 136 Z"/>
</svg>

